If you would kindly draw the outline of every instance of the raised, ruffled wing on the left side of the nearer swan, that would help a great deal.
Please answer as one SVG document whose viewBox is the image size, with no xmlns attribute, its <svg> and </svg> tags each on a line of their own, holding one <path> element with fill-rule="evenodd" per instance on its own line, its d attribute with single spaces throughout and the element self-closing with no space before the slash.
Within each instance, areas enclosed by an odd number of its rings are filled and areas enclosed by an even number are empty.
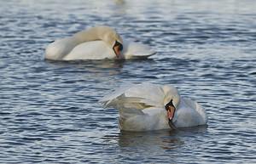
<svg viewBox="0 0 256 164">
<path fill-rule="evenodd" d="M 104 107 L 143 110 L 149 107 L 163 107 L 164 97 L 159 85 L 143 82 L 142 84 L 133 84 L 131 87 L 121 87 L 104 96 L 100 101 Z"/>
</svg>

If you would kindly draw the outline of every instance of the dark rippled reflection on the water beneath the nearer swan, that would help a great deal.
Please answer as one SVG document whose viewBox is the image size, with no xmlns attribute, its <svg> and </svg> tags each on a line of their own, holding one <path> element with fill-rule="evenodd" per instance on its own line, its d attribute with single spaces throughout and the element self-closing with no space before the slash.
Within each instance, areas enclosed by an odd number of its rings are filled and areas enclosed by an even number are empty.
<svg viewBox="0 0 256 164">
<path fill-rule="evenodd" d="M 175 150 L 193 142 L 195 137 L 207 133 L 207 126 L 187 127 L 178 130 L 160 130 L 148 132 L 120 131 L 119 146 L 143 150 Z"/>
</svg>

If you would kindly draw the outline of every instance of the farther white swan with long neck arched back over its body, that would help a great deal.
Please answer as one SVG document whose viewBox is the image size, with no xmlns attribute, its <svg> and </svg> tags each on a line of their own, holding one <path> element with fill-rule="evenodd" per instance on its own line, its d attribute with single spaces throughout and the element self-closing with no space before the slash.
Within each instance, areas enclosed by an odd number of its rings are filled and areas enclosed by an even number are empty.
<svg viewBox="0 0 256 164">
<path fill-rule="evenodd" d="M 132 59 L 153 54 L 147 45 L 123 40 L 111 27 L 96 26 L 50 43 L 45 59 Z"/>
</svg>

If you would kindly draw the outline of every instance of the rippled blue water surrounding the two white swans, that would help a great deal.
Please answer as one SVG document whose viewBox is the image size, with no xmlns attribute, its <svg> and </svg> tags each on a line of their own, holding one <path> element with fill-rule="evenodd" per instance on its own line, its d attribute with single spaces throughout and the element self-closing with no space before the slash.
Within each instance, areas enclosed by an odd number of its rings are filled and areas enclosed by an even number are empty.
<svg viewBox="0 0 256 164">
<path fill-rule="evenodd" d="M 0 163 L 256 163 L 256 2 L 1 1 Z M 52 62 L 44 48 L 93 25 L 151 59 Z M 172 84 L 207 127 L 119 132 L 97 101 L 124 82 Z"/>
</svg>

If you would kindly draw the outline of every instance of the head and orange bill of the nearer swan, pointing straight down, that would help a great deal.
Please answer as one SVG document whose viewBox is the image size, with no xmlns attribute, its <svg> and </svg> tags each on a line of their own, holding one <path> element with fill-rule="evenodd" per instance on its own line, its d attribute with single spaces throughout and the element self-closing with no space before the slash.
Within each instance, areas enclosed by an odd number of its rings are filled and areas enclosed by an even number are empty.
<svg viewBox="0 0 256 164">
<path fill-rule="evenodd" d="M 175 112 L 177 110 L 177 106 L 179 105 L 180 96 L 177 91 L 177 88 L 171 86 L 164 86 L 162 87 L 165 93 L 164 105 L 166 108 L 166 115 L 168 118 L 169 126 L 172 129 L 176 129 L 173 124 L 173 117 L 175 116 Z"/>
</svg>

